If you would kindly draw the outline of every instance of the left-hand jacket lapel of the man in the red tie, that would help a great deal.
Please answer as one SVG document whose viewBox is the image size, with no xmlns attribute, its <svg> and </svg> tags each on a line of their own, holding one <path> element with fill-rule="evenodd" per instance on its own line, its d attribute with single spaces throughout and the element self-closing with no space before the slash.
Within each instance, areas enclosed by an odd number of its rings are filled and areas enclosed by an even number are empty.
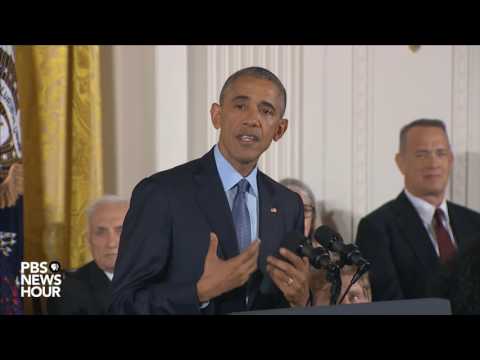
<svg viewBox="0 0 480 360">
<path fill-rule="evenodd" d="M 396 218 L 400 225 L 400 231 L 408 243 L 412 246 L 415 254 L 427 269 L 438 265 L 438 257 L 420 216 L 402 192 L 394 202 Z"/>
</svg>

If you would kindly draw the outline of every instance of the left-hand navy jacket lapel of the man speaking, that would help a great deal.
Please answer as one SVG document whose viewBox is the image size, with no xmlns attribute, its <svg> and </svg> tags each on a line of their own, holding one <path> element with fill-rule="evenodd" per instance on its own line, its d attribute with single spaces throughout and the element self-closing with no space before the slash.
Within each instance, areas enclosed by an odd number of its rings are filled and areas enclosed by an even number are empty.
<svg viewBox="0 0 480 360">
<path fill-rule="evenodd" d="M 194 173 L 196 200 L 210 229 L 217 234 L 219 256 L 229 259 L 239 254 L 232 213 L 223 190 L 213 156 L 213 148 L 202 159 Z"/>
</svg>

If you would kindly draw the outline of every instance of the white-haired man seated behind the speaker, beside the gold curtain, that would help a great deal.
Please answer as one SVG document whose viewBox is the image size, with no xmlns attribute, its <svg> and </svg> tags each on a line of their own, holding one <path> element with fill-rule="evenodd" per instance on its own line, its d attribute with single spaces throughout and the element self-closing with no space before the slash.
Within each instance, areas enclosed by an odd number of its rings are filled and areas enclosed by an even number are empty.
<svg viewBox="0 0 480 360">
<path fill-rule="evenodd" d="M 87 239 L 93 261 L 67 272 L 60 298 L 49 298 L 48 314 L 106 314 L 111 301 L 111 281 L 128 200 L 105 195 L 87 210 Z"/>
</svg>

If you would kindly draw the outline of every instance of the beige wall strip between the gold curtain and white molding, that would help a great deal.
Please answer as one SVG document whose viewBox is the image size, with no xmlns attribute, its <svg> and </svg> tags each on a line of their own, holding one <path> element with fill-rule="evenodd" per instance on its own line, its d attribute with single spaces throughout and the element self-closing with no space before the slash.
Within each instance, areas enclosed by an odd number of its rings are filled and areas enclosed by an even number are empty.
<svg viewBox="0 0 480 360">
<path fill-rule="evenodd" d="M 155 47 L 102 46 L 104 191 L 130 196 L 157 167 Z"/>
</svg>

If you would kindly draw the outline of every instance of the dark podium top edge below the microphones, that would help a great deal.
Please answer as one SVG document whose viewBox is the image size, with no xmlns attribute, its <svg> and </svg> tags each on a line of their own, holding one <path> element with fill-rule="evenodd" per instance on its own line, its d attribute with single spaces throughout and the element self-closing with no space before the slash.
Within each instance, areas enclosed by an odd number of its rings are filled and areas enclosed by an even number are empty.
<svg viewBox="0 0 480 360">
<path fill-rule="evenodd" d="M 367 304 L 312 306 L 236 312 L 230 315 L 451 315 L 450 301 L 425 298 Z"/>
</svg>

